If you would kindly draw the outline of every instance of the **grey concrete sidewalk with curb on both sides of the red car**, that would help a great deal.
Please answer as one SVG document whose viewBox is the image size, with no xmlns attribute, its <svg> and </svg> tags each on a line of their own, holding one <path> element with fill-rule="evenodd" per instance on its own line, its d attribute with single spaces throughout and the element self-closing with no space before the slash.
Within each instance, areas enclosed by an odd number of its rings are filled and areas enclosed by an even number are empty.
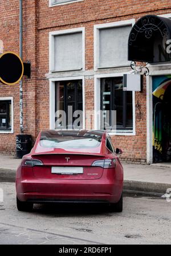
<svg viewBox="0 0 171 256">
<path fill-rule="evenodd" d="M 0 178 L 15 179 L 16 169 L 21 159 L 0 154 Z M 124 190 L 146 194 L 165 194 L 171 188 L 171 165 L 132 165 L 123 163 Z"/>
</svg>

